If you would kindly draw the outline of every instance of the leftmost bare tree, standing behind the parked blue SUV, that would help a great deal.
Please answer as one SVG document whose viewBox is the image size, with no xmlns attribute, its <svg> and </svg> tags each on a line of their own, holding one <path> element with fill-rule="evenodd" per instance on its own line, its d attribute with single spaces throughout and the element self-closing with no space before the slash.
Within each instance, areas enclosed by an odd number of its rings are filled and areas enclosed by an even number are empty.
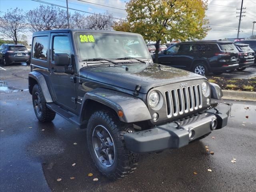
<svg viewBox="0 0 256 192">
<path fill-rule="evenodd" d="M 0 33 L 4 38 L 11 38 L 18 43 L 21 32 L 26 30 L 26 20 L 22 9 L 10 9 L 0 17 Z"/>
</svg>

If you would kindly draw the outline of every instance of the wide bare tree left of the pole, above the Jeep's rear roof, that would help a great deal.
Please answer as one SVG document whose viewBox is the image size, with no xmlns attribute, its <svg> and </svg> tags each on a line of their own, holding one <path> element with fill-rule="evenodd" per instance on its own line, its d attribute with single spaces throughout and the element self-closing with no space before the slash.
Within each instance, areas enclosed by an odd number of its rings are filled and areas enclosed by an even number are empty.
<svg viewBox="0 0 256 192">
<path fill-rule="evenodd" d="M 28 11 L 27 21 L 31 32 L 68 27 L 66 11 L 53 6 L 40 5 Z"/>
</svg>

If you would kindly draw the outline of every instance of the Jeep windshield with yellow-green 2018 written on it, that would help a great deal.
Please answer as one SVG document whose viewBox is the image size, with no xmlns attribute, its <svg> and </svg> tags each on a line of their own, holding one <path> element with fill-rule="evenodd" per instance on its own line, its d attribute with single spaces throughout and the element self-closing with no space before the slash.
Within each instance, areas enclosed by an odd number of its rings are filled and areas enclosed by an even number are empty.
<svg viewBox="0 0 256 192">
<path fill-rule="evenodd" d="M 81 32 L 74 34 L 79 60 L 134 57 L 150 59 L 141 36 L 129 34 Z"/>
</svg>

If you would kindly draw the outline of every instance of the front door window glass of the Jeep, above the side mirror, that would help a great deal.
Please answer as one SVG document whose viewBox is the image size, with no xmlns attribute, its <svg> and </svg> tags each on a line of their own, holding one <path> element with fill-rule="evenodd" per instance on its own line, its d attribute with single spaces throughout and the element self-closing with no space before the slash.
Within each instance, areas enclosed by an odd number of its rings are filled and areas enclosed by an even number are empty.
<svg viewBox="0 0 256 192">
<path fill-rule="evenodd" d="M 53 48 L 52 48 L 52 60 L 54 60 L 54 54 L 66 53 L 71 56 L 70 40 L 68 36 L 54 36 Z"/>
</svg>

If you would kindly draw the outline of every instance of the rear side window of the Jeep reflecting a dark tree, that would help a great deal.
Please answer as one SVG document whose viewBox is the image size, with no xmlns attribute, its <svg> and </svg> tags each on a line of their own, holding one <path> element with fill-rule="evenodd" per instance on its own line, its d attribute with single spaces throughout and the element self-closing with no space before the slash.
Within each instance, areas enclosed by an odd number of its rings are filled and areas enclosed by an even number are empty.
<svg viewBox="0 0 256 192">
<path fill-rule="evenodd" d="M 34 37 L 32 58 L 47 60 L 48 36 Z"/>
</svg>

